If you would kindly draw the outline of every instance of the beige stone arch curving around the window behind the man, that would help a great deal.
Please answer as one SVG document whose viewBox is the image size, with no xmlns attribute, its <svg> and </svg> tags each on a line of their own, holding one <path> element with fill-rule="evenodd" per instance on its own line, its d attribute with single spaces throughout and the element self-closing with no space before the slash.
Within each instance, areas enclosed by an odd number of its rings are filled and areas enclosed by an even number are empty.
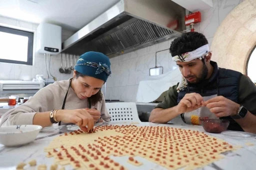
<svg viewBox="0 0 256 170">
<path fill-rule="evenodd" d="M 219 67 L 246 74 L 248 57 L 256 44 L 255 18 L 256 0 L 243 0 L 221 22 L 210 48 L 211 59 Z"/>
</svg>

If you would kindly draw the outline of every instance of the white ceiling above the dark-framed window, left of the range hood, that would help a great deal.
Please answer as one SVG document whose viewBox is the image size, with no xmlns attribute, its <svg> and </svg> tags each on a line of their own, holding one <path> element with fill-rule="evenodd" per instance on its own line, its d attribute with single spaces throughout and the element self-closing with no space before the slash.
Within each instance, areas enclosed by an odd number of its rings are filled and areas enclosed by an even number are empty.
<svg viewBox="0 0 256 170">
<path fill-rule="evenodd" d="M 0 0 L 0 15 L 77 31 L 119 0 Z"/>
</svg>

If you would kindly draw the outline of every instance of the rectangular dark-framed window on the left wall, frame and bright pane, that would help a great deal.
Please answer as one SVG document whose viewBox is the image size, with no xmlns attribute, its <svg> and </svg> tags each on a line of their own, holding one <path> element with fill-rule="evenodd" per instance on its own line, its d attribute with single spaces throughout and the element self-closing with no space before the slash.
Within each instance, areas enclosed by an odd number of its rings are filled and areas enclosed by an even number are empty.
<svg viewBox="0 0 256 170">
<path fill-rule="evenodd" d="M 32 65 L 33 32 L 0 26 L 0 62 Z"/>
</svg>

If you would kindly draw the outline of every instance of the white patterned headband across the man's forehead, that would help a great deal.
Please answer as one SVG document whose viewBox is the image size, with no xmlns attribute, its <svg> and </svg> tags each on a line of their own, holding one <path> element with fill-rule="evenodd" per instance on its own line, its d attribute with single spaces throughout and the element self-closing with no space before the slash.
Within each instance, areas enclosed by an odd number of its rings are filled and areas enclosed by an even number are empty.
<svg viewBox="0 0 256 170">
<path fill-rule="evenodd" d="M 173 57 L 174 61 L 182 61 L 182 62 L 189 62 L 193 59 L 199 58 L 200 60 L 204 58 L 206 54 L 209 52 L 209 45 L 203 45 L 191 52 L 186 52 L 181 55 L 176 55 Z"/>
</svg>

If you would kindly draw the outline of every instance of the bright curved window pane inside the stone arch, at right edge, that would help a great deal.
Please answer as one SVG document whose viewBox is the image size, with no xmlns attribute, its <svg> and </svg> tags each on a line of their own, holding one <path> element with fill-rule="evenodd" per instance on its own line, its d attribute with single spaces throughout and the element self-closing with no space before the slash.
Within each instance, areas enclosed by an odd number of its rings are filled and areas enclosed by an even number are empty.
<svg viewBox="0 0 256 170">
<path fill-rule="evenodd" d="M 246 74 L 253 83 L 256 83 L 256 48 L 254 47 L 247 61 Z"/>
</svg>

